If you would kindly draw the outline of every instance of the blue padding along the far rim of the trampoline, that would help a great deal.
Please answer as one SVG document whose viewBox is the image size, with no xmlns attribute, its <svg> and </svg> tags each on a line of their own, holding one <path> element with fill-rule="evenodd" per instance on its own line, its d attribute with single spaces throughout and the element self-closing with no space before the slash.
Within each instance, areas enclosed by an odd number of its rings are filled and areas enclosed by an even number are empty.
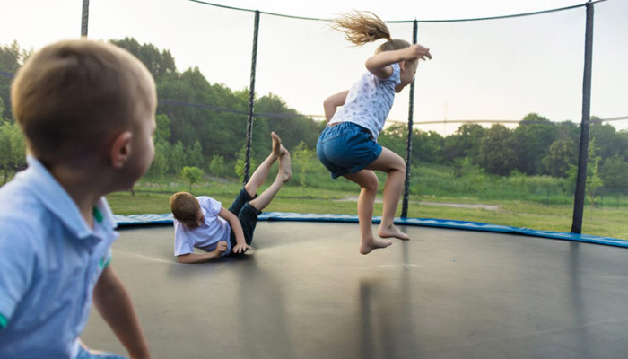
<svg viewBox="0 0 628 359">
<path fill-rule="evenodd" d="M 118 226 L 172 223 L 172 214 L 165 215 L 114 215 Z M 266 212 L 258 217 L 259 221 L 303 221 L 303 222 L 344 222 L 358 223 L 357 215 L 321 215 L 297 214 L 286 212 Z M 381 222 L 381 217 L 373 217 L 373 223 Z M 589 234 L 574 234 L 565 232 L 539 231 L 529 228 L 511 227 L 509 225 L 487 224 L 480 222 L 454 221 L 433 218 L 397 218 L 396 224 L 417 225 L 426 227 L 440 227 L 456 230 L 517 233 L 534 237 L 551 238 L 565 241 L 583 241 L 589 243 L 606 244 L 615 247 L 628 248 L 628 241 L 611 237 L 598 237 Z"/>
</svg>

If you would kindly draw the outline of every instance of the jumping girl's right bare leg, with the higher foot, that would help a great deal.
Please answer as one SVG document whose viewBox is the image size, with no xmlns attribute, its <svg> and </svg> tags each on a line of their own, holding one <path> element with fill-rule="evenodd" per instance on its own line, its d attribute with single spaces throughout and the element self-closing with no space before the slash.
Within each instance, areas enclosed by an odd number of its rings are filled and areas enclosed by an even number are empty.
<svg viewBox="0 0 628 359">
<path fill-rule="evenodd" d="M 368 170 L 384 171 L 388 174 L 384 184 L 384 208 L 381 213 L 381 223 L 379 224 L 379 237 L 398 238 L 407 241 L 410 237 L 401 232 L 393 223 L 399 197 L 404 189 L 406 180 L 406 162 L 388 148 L 383 147 L 377 160 L 366 166 Z"/>
</svg>

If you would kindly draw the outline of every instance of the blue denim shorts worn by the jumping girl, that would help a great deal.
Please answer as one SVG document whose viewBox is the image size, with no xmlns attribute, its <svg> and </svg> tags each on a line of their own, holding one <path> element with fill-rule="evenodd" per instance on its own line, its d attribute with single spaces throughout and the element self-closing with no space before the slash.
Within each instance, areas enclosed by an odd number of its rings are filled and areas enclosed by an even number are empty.
<svg viewBox="0 0 628 359">
<path fill-rule="evenodd" d="M 371 132 L 353 122 L 326 127 L 316 144 L 318 160 L 331 172 L 331 178 L 357 173 L 375 161 L 381 146 Z"/>
</svg>

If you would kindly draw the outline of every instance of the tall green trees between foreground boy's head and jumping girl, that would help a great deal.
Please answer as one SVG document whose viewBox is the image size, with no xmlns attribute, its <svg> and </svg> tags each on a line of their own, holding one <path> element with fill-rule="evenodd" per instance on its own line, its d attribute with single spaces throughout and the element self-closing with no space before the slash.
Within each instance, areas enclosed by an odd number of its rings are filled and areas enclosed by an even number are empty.
<svg viewBox="0 0 628 359">
<path fill-rule="evenodd" d="M 207 171 L 208 164 L 216 156 L 231 164 L 243 155 L 241 150 L 245 144 L 249 110 L 248 89 L 233 91 L 221 83 L 209 83 L 197 67 L 179 72 L 170 51 L 160 51 L 152 44 L 139 44 L 130 38 L 111 42 L 126 48 L 144 63 L 153 74 L 160 100 L 177 102 L 164 104 L 161 101 L 157 109 L 160 127 L 156 138 L 158 152 L 161 152 L 165 162 L 170 162 L 170 166 L 166 164 L 165 171 L 179 173 L 179 167 L 183 165 Z M 204 109 L 196 105 L 231 111 Z M 276 114 L 275 117 L 256 116 L 254 119 L 251 151 L 258 160 L 266 157 L 270 149 L 271 131 L 282 136 L 287 148 L 294 148 L 301 141 L 315 145 L 322 129 L 320 123 L 288 108 L 280 97 L 272 93 L 256 98 L 255 112 Z M 186 155 L 181 156 L 181 153 Z M 221 174 L 229 173 L 232 171 L 228 169 Z"/>
</svg>

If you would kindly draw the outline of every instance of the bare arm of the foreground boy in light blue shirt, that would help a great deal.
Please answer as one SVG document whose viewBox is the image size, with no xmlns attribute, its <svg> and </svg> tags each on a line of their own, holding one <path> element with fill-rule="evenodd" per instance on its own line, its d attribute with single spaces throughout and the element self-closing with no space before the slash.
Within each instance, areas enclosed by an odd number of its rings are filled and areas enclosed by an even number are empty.
<svg viewBox="0 0 628 359">
<path fill-rule="evenodd" d="M 151 358 L 131 299 L 110 264 L 94 287 L 93 302 L 132 359 Z"/>
</svg>

